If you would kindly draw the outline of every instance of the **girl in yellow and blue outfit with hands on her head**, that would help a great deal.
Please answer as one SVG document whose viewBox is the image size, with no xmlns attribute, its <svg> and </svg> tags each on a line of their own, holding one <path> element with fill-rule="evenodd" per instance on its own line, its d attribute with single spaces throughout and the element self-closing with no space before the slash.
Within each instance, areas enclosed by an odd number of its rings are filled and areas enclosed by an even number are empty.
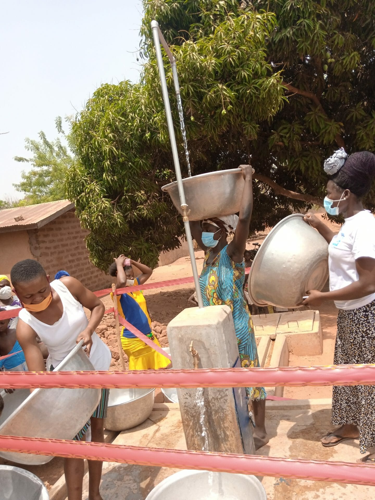
<svg viewBox="0 0 375 500">
<path fill-rule="evenodd" d="M 132 264 L 141 271 L 141 274 L 137 277 L 134 277 Z M 152 269 L 147 265 L 120 255 L 110 265 L 109 274 L 117 277 L 116 288 L 125 288 L 126 286 L 145 283 L 152 274 Z M 156 345 L 160 346 L 152 332 L 151 318 L 148 314 L 146 300 L 140 290 L 117 295 L 117 309 L 120 316 L 155 342 Z M 130 370 L 155 370 L 166 368 L 170 363 L 167 357 L 152 349 L 125 326 L 121 326 L 120 334 L 122 349 L 129 359 Z"/>
</svg>

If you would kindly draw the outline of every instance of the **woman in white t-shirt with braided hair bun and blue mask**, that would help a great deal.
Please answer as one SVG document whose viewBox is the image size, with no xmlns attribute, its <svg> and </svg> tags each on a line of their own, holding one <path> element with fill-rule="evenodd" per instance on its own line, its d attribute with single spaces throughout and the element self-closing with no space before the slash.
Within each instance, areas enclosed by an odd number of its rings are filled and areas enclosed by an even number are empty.
<svg viewBox="0 0 375 500">
<path fill-rule="evenodd" d="M 330 176 L 324 208 L 342 214 L 344 223 L 334 234 L 315 215 L 304 217 L 329 243 L 330 291 L 310 290 L 303 304 L 334 300 L 339 309 L 334 364 L 375 363 L 375 218 L 361 201 L 375 176 L 375 155 L 361 151 L 347 157 L 341 148 L 324 162 L 324 170 Z M 375 447 L 375 385 L 334 386 L 332 424 L 339 427 L 321 439 L 323 446 L 359 437 L 361 453 Z M 375 453 L 358 461 L 375 465 Z"/>
</svg>

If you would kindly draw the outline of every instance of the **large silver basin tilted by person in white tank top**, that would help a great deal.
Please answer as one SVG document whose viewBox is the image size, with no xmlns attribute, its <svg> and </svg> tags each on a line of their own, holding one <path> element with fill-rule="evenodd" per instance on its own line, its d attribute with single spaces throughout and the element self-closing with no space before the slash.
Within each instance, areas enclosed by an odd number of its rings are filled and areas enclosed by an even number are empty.
<svg viewBox="0 0 375 500">
<path fill-rule="evenodd" d="M 53 371 L 93 370 L 89 358 L 77 344 Z M 12 394 L 1 393 L 4 409 L 0 416 L 0 434 L 72 439 L 94 412 L 100 389 L 16 389 Z M 40 465 L 52 456 L 0 451 L 7 460 L 28 465 Z"/>
</svg>

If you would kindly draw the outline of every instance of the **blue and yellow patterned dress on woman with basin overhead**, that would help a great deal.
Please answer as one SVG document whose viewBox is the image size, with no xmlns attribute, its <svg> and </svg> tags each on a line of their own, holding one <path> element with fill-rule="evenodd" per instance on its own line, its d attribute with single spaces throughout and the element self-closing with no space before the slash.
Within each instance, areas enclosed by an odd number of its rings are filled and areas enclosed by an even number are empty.
<svg viewBox="0 0 375 500">
<path fill-rule="evenodd" d="M 243 295 L 245 264 L 233 262 L 226 253 L 227 245 L 207 264 L 211 248 L 208 249 L 200 274 L 199 283 L 203 305 L 228 305 L 232 311 L 239 359 L 242 368 L 259 366 L 254 328 L 250 311 Z M 251 399 L 264 399 L 264 387 L 246 387 Z"/>
</svg>

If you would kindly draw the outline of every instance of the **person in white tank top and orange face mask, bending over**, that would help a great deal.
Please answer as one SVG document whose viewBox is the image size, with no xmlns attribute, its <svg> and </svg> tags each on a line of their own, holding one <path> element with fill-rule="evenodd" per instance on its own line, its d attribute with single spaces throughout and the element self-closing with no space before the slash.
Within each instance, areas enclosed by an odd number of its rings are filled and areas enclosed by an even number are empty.
<svg viewBox="0 0 375 500">
<path fill-rule="evenodd" d="M 83 340 L 86 353 L 95 369 L 109 368 L 110 350 L 94 331 L 103 317 L 104 305 L 91 291 L 71 276 L 49 283 L 49 276 L 39 262 L 31 259 L 17 262 L 11 270 L 10 279 L 23 306 L 19 313 L 16 336 L 30 371 L 45 369 L 37 336 L 48 349 L 48 369 L 56 367 L 80 340 Z M 87 319 L 83 307 L 91 311 L 90 319 Z M 95 442 L 104 442 L 103 422 L 108 394 L 108 389 L 102 389 L 99 405 L 90 418 L 91 440 Z M 84 439 L 88 425 L 89 422 L 74 439 Z M 64 460 L 68 500 L 81 500 L 83 459 Z M 101 467 L 102 462 L 88 460 L 92 498 L 101 498 Z"/>
</svg>

